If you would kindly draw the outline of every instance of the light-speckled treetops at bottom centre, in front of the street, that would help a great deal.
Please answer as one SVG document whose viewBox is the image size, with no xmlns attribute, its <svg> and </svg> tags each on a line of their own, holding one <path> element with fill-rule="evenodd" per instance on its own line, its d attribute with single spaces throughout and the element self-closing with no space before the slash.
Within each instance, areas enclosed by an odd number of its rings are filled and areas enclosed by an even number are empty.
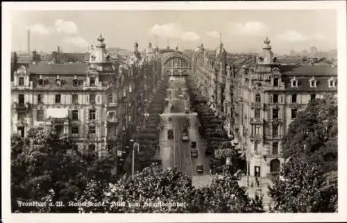
<svg viewBox="0 0 347 223">
<path fill-rule="evenodd" d="M 219 176 L 210 187 L 194 188 L 192 179 L 176 167 L 146 167 L 132 179 L 123 176 L 104 188 L 101 195 L 97 183 L 88 183 L 78 201 L 103 203 L 102 207 L 83 207 L 80 211 L 107 213 L 262 213 L 262 199 L 251 199 L 239 188 L 231 174 Z M 161 203 L 160 203 L 161 202 Z M 163 204 L 178 204 L 165 206 Z M 158 206 L 146 206 L 146 204 Z M 137 204 L 137 205 L 135 205 Z M 159 204 L 162 204 L 160 206 Z"/>
</svg>

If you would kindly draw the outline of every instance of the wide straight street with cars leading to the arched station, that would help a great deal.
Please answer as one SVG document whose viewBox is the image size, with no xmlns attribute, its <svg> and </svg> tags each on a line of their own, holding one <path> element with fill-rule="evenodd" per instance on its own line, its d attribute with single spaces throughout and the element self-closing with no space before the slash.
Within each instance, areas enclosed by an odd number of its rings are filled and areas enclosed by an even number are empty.
<svg viewBox="0 0 347 223">
<path fill-rule="evenodd" d="M 178 88 L 182 90 L 183 98 L 178 98 Z M 194 179 L 201 179 L 210 174 L 210 158 L 205 156 L 206 141 L 198 133 L 198 117 L 190 110 L 189 95 L 184 78 L 175 78 L 169 83 L 167 90 L 169 102 L 164 113 L 161 115 L 164 128 L 160 132 L 160 154 L 163 167 L 177 166 L 185 174 L 192 175 Z M 185 113 L 189 108 L 189 113 Z M 169 117 L 171 120 L 169 120 Z M 183 129 L 185 120 L 189 119 L 189 141 L 183 141 Z M 168 139 L 169 129 L 174 131 L 174 138 Z M 196 141 L 198 157 L 190 156 L 191 142 Z M 203 173 L 196 172 L 196 165 L 203 164 Z"/>
</svg>

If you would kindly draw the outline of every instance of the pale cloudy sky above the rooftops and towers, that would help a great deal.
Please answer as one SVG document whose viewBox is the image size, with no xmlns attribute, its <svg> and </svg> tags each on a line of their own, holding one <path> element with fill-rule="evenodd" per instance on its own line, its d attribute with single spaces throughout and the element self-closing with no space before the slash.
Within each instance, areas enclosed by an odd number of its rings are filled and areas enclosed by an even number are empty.
<svg viewBox="0 0 347 223">
<path fill-rule="evenodd" d="M 112 10 L 20 11 L 12 13 L 12 50 L 87 51 L 103 34 L 107 47 L 132 49 L 137 41 L 159 47 L 195 49 L 203 42 L 215 49 L 219 33 L 227 51 L 260 51 L 269 36 L 275 53 L 314 45 L 323 51 L 337 48 L 335 10 Z"/>
</svg>

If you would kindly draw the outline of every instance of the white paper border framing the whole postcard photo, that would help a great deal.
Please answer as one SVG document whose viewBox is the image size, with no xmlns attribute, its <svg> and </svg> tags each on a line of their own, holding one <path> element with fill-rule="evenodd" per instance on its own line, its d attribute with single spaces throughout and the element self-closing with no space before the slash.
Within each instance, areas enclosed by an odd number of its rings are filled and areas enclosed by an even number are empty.
<svg viewBox="0 0 347 223">
<path fill-rule="evenodd" d="M 346 2 L 8 2 L 2 3 L 2 216 L 3 222 L 325 222 L 346 221 Z M 339 213 L 335 214 L 11 214 L 10 213 L 10 10 L 337 10 L 339 72 Z"/>
</svg>

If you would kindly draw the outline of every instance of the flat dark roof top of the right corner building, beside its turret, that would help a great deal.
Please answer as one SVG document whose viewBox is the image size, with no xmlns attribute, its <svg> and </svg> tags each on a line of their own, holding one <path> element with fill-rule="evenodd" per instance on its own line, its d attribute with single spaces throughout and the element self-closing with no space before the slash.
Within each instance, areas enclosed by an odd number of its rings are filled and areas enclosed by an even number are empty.
<svg viewBox="0 0 347 223">
<path fill-rule="evenodd" d="M 288 76 L 337 76 L 337 67 L 332 65 L 281 66 L 281 71 Z"/>
</svg>

